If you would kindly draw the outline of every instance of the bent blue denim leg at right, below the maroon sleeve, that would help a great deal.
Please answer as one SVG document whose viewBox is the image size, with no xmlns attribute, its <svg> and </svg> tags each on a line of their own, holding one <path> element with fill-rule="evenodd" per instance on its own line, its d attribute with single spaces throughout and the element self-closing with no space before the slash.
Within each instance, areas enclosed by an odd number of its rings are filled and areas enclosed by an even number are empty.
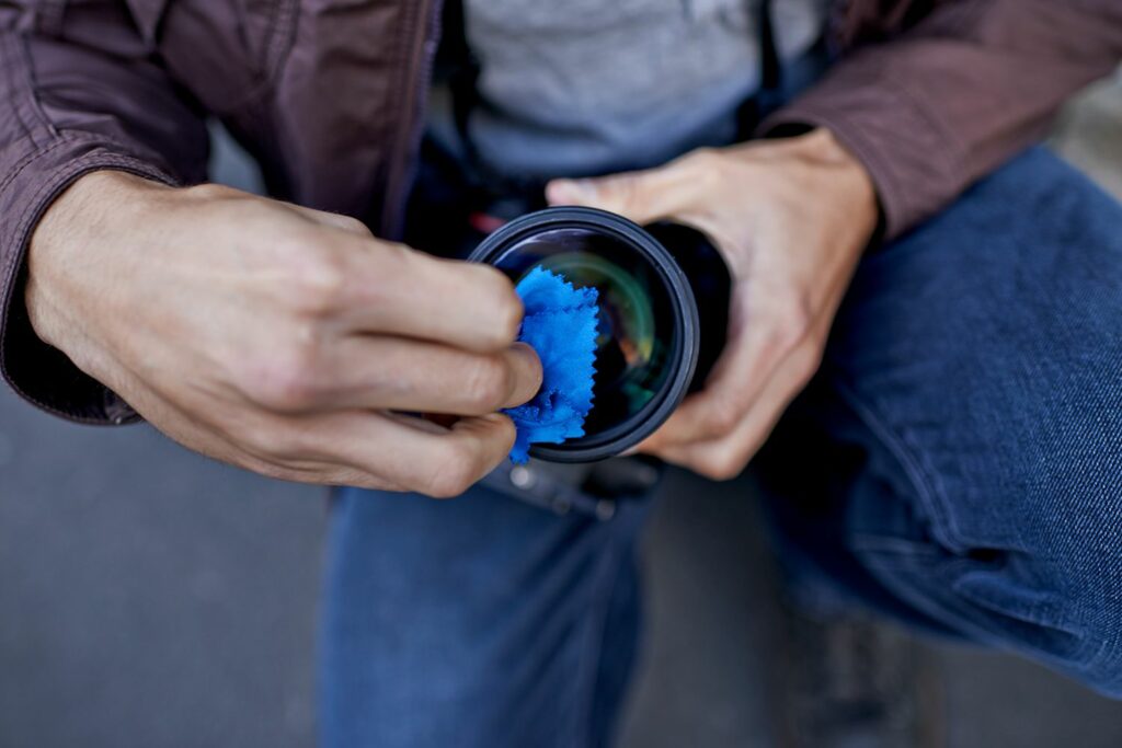
<svg viewBox="0 0 1122 748">
<path fill-rule="evenodd" d="M 858 423 L 831 438 L 891 484 L 850 500 L 862 563 L 949 628 L 1122 696 L 1119 225 L 1030 151 L 862 265 L 820 380 Z"/>
</svg>

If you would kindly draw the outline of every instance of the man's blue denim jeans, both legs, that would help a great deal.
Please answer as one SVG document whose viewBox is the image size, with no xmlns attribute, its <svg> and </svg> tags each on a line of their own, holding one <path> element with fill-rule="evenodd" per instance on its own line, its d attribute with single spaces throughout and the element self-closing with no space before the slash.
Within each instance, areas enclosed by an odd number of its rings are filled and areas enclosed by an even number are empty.
<svg viewBox="0 0 1122 748">
<path fill-rule="evenodd" d="M 863 259 L 751 468 L 783 561 L 1122 696 L 1120 380 L 1122 206 L 1028 151 Z M 324 745 L 610 742 L 650 505 L 340 490 Z"/>
</svg>

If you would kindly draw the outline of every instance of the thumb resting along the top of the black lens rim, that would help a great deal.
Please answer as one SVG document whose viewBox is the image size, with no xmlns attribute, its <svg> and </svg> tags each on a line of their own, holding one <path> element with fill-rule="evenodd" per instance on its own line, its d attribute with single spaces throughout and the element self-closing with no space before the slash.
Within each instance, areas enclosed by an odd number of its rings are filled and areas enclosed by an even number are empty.
<svg viewBox="0 0 1122 748">
<path fill-rule="evenodd" d="M 650 223 L 684 211 L 689 184 L 674 166 L 595 179 L 554 179 L 545 186 L 550 205 L 583 205 Z"/>
</svg>

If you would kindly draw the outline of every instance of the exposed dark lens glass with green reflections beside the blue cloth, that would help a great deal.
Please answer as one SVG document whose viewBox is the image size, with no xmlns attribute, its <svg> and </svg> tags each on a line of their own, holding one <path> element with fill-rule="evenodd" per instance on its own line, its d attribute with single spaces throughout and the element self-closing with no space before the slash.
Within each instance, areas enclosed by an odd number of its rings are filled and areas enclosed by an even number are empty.
<svg viewBox="0 0 1122 748">
<path fill-rule="evenodd" d="M 599 292 L 596 399 L 585 438 L 624 425 L 666 384 L 674 335 L 670 294 L 631 244 L 610 233 L 554 228 L 515 242 L 496 265 L 515 281 L 543 266 L 574 286 Z"/>
</svg>

